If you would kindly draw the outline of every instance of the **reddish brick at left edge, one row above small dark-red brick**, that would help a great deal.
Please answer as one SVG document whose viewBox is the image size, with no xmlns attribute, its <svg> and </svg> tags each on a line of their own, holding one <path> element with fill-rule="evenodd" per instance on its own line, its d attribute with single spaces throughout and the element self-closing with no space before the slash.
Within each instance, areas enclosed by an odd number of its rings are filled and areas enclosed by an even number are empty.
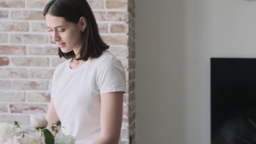
<svg viewBox="0 0 256 144">
<path fill-rule="evenodd" d="M 0 45 L 0 53 L 6 55 L 25 55 L 26 47 L 18 45 Z"/>
</svg>

